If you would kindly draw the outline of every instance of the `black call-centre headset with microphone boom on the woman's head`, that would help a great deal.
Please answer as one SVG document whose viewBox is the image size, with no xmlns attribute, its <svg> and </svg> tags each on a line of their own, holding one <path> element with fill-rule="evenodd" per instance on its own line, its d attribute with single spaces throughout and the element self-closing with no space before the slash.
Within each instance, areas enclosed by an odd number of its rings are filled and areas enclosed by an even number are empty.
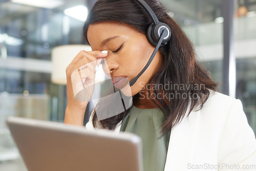
<svg viewBox="0 0 256 171">
<path fill-rule="evenodd" d="M 156 48 L 153 51 L 150 59 L 147 61 L 145 67 L 141 70 L 141 72 L 136 77 L 131 79 L 131 81 L 129 82 L 130 87 L 132 87 L 137 81 L 137 79 L 146 71 L 146 69 L 148 68 L 148 66 L 150 66 L 150 63 L 154 59 L 158 49 L 166 45 L 167 42 L 170 40 L 171 36 L 169 26 L 165 23 L 159 22 L 156 14 L 150 8 L 150 6 L 148 6 L 143 0 L 136 1 L 145 9 L 145 11 L 148 13 L 148 15 L 150 15 L 153 21 L 153 23 L 147 29 L 146 37 L 147 40 L 151 43 L 151 45 L 155 46 Z"/>
</svg>

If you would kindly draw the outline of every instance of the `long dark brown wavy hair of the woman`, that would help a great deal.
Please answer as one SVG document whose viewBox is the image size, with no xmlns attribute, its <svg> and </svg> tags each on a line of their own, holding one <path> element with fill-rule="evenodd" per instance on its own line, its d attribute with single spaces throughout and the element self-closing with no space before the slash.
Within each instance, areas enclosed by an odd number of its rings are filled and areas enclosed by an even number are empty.
<svg viewBox="0 0 256 171">
<path fill-rule="evenodd" d="M 172 37 L 167 45 L 159 48 L 163 65 L 148 82 L 150 84 L 154 83 L 155 86 L 158 85 L 161 88 L 154 89 L 153 92 L 148 90 L 150 94 L 157 95 L 165 92 L 169 95 L 176 95 L 176 97 L 179 95 L 179 98 L 169 98 L 168 101 L 158 96 L 156 98 L 151 97 L 152 101 L 164 114 L 165 120 L 161 131 L 162 135 L 164 135 L 180 123 L 186 112 L 189 115 L 193 110 L 202 109 L 203 104 L 210 96 L 209 90 L 216 91 L 218 85 L 212 81 L 207 71 L 199 65 L 196 60 L 194 46 L 182 29 L 167 14 L 167 9 L 158 0 L 144 1 L 152 8 L 159 21 L 166 23 L 172 32 Z M 135 0 L 98 0 L 84 24 L 84 38 L 88 41 L 87 31 L 89 25 L 108 21 L 128 24 L 143 34 L 146 34 L 148 26 L 153 23 L 143 7 Z M 166 86 L 162 86 L 167 84 L 169 86 L 176 85 L 176 89 L 166 89 Z M 183 96 L 181 97 L 181 95 Z M 185 95 L 187 95 L 186 98 L 184 98 Z M 139 93 L 133 96 L 133 100 L 138 98 Z M 94 109 L 91 113 L 93 115 L 93 125 L 94 127 L 100 126 L 103 129 L 114 130 L 128 112 L 129 109 L 119 115 L 98 121 Z"/>
</svg>

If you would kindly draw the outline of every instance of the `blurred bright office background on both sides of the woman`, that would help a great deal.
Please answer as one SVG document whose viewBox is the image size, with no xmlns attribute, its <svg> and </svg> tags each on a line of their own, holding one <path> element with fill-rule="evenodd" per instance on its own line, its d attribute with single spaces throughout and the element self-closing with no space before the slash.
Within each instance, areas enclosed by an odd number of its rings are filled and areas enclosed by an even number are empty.
<svg viewBox="0 0 256 171">
<path fill-rule="evenodd" d="M 242 100 L 256 133 L 256 0 L 225 1 L 162 0 L 220 92 Z M 0 170 L 26 170 L 7 129 L 8 116 L 63 122 L 66 86 L 51 82 L 51 52 L 85 43 L 82 27 L 94 3 L 0 0 Z"/>
</svg>

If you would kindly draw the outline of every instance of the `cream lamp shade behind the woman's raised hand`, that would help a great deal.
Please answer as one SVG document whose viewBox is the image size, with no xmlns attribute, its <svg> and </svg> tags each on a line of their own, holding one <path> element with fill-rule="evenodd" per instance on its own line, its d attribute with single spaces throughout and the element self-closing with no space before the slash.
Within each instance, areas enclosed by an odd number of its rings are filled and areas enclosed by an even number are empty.
<svg viewBox="0 0 256 171">
<path fill-rule="evenodd" d="M 56 84 L 67 84 L 66 68 L 81 51 L 91 51 L 89 45 L 63 45 L 52 49 L 51 80 Z"/>
</svg>

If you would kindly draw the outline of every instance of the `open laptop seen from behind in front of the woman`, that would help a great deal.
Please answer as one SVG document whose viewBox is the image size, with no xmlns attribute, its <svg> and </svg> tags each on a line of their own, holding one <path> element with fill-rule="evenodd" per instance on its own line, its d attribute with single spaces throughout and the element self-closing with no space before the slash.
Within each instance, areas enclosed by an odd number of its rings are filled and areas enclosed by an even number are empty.
<svg viewBox="0 0 256 171">
<path fill-rule="evenodd" d="M 143 170 L 135 134 L 19 117 L 9 117 L 7 124 L 29 171 Z"/>
</svg>

